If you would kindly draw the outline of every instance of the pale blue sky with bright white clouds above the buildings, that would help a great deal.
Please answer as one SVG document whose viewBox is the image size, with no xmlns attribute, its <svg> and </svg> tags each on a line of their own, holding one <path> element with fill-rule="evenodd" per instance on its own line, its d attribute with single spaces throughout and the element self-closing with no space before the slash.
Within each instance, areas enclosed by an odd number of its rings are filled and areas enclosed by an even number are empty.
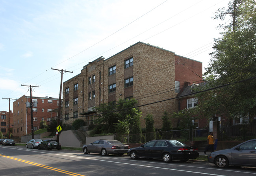
<svg viewBox="0 0 256 176">
<path fill-rule="evenodd" d="M 84 65 L 137 42 L 208 66 L 229 0 L 0 0 L 0 111 L 24 94 L 59 98 Z M 10 101 L 10 110 L 13 102 Z"/>
</svg>

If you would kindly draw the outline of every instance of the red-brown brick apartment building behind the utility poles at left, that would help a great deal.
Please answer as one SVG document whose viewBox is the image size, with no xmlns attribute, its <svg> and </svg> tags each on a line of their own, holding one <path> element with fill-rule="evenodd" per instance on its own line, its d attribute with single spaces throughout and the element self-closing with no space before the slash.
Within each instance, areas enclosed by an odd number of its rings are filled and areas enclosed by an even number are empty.
<svg viewBox="0 0 256 176">
<path fill-rule="evenodd" d="M 59 98 L 52 97 L 33 97 L 32 101 L 37 101 L 37 107 L 33 107 L 33 128 L 34 131 L 40 128 L 40 122 L 44 120 L 50 124 L 56 118 L 56 113 L 52 111 L 58 108 Z M 30 96 L 21 96 L 13 102 L 13 137 L 31 133 L 31 109 L 26 107 L 26 102 L 30 102 Z"/>
</svg>

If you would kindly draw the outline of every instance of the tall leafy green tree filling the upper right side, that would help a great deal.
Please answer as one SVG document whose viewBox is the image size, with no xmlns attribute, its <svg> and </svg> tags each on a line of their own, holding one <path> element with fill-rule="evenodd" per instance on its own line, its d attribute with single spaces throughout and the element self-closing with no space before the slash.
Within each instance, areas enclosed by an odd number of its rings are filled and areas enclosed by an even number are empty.
<svg viewBox="0 0 256 176">
<path fill-rule="evenodd" d="M 220 25 L 222 36 L 215 39 L 210 66 L 205 76 L 215 78 L 208 87 L 218 87 L 198 95 L 199 113 L 212 118 L 223 114 L 230 119 L 256 115 L 256 2 L 232 0 L 219 9 L 215 19 L 231 21 Z M 206 88 L 206 87 L 205 87 Z M 201 100 L 200 100 L 201 99 Z M 252 119 L 252 118 L 250 118 Z"/>
</svg>

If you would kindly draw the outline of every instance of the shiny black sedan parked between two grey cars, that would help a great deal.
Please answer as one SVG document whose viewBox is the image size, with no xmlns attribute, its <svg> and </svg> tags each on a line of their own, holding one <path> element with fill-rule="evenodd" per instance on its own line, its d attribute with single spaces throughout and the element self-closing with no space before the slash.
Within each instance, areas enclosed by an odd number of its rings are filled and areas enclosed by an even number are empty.
<svg viewBox="0 0 256 176">
<path fill-rule="evenodd" d="M 139 147 L 131 148 L 127 155 L 131 159 L 138 157 L 158 158 L 164 162 L 172 160 L 187 161 L 199 156 L 195 146 L 188 146 L 175 140 L 153 140 Z"/>
</svg>

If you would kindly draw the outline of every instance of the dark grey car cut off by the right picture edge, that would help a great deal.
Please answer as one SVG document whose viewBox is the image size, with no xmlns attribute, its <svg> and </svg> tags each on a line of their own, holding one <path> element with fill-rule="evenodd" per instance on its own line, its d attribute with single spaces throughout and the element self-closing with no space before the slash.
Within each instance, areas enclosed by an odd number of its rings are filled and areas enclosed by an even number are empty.
<svg viewBox="0 0 256 176">
<path fill-rule="evenodd" d="M 256 167 L 256 139 L 233 148 L 211 152 L 208 161 L 218 168 L 226 168 L 228 165 Z"/>
</svg>

